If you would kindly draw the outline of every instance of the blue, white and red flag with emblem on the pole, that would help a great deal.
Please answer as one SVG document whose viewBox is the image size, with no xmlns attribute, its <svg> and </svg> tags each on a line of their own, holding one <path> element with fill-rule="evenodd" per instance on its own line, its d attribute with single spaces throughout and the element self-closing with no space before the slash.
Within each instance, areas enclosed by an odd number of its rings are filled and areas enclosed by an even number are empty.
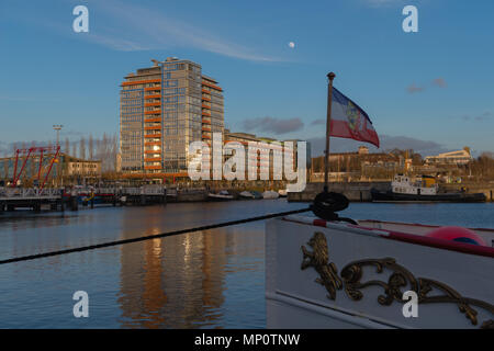
<svg viewBox="0 0 494 351">
<path fill-rule="evenodd" d="M 330 136 L 366 141 L 379 147 L 379 137 L 367 113 L 333 88 Z"/>
</svg>

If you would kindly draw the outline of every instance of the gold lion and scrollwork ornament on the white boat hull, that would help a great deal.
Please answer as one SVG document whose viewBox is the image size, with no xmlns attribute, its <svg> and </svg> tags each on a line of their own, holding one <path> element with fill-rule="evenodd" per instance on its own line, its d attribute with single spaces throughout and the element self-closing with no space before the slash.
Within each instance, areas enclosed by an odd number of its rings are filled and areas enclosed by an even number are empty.
<svg viewBox="0 0 494 351">
<path fill-rule="evenodd" d="M 360 301 L 363 297 L 362 290 L 369 286 L 380 286 L 383 294 L 378 296 L 378 303 L 390 306 L 393 302 L 406 303 L 403 299 L 405 291 L 402 291 L 406 287 L 406 291 L 417 293 L 418 304 L 456 304 L 474 326 L 479 324 L 479 320 L 478 312 L 472 306 L 494 315 L 493 305 L 480 299 L 463 297 L 445 283 L 426 278 L 415 278 L 406 268 L 397 264 L 393 258 L 364 259 L 350 262 L 343 268 L 340 278 L 336 264 L 329 262 L 329 249 L 326 236 L 323 233 L 316 231 L 308 240 L 307 246 L 312 248 L 312 251 L 305 246 L 301 247 L 303 253 L 301 269 L 314 268 L 319 274 L 316 282 L 326 288 L 329 299 L 335 299 L 337 291 L 344 288 L 349 298 Z M 377 273 L 388 271 L 391 274 L 388 281 L 362 281 L 363 268 L 366 267 L 374 268 Z M 440 292 L 440 295 L 431 295 L 434 291 Z M 494 329 L 494 320 L 483 321 L 481 328 Z"/>
</svg>

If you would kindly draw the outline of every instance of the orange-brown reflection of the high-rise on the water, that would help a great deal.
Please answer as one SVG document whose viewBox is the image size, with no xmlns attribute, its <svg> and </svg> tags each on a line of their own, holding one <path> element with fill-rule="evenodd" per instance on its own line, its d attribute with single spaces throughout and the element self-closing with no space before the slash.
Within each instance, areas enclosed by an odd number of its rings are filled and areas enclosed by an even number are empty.
<svg viewBox="0 0 494 351">
<path fill-rule="evenodd" d="M 167 231 L 162 212 L 122 216 L 123 239 Z M 183 220 L 183 218 L 182 218 Z M 137 222 L 137 223 L 136 223 Z M 194 328 L 217 325 L 224 303 L 231 236 L 197 231 L 121 248 L 119 304 L 124 328 Z"/>
</svg>

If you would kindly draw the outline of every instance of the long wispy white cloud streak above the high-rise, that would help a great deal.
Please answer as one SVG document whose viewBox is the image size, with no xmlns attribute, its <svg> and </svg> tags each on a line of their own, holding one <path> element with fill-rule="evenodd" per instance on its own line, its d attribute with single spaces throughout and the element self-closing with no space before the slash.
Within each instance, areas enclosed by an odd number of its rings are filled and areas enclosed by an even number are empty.
<svg viewBox="0 0 494 351">
<path fill-rule="evenodd" d="M 111 49 L 134 52 L 191 47 L 228 57 L 252 61 L 281 61 L 259 54 L 255 48 L 231 42 L 205 27 L 169 18 L 156 10 L 116 0 L 105 0 L 89 7 L 106 19 L 104 24 L 90 26 L 79 38 L 104 45 Z M 119 31 L 115 31 L 119 29 Z"/>
</svg>

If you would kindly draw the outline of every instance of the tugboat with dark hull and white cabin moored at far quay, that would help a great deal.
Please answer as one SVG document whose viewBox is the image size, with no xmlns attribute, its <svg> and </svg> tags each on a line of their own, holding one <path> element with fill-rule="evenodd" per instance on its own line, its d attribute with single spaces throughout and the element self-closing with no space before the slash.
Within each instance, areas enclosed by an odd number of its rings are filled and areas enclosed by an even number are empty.
<svg viewBox="0 0 494 351">
<path fill-rule="evenodd" d="M 383 192 L 371 189 L 373 202 L 485 202 L 483 193 L 439 193 L 436 179 L 422 176 L 413 179 L 406 174 L 396 174 L 391 182 L 391 190 Z"/>
</svg>

